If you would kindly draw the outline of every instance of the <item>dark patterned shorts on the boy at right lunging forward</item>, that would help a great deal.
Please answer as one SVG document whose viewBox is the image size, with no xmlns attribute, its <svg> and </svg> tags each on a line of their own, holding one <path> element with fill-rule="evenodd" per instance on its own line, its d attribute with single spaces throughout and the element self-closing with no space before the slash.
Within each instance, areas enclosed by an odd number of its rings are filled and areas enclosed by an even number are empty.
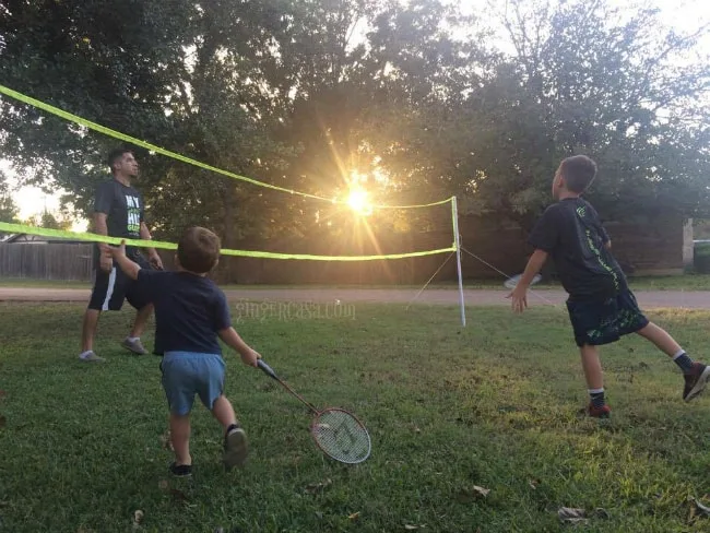
<svg viewBox="0 0 710 533">
<path fill-rule="evenodd" d="M 618 341 L 622 335 L 636 333 L 649 323 L 629 289 L 606 299 L 570 297 L 567 311 L 575 330 L 575 341 L 580 347 Z"/>
</svg>

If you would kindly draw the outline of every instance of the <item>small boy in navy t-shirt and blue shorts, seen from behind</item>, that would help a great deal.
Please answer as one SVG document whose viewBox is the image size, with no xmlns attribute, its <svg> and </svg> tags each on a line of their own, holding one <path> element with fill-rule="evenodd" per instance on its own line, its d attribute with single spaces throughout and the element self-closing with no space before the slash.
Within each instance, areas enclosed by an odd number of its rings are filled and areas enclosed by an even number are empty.
<svg viewBox="0 0 710 533">
<path fill-rule="evenodd" d="M 223 462 L 227 469 L 247 458 L 247 437 L 224 395 L 225 364 L 217 339 L 257 367 L 261 358 L 232 328 L 224 293 L 206 277 L 220 258 L 220 238 L 202 227 L 191 227 L 180 238 L 177 271 L 141 269 L 126 257 L 121 244 L 111 248 L 114 260 L 153 301 L 155 354 L 163 355 L 163 388 L 170 410 L 170 435 L 177 476 L 192 474 L 190 411 L 194 394 L 224 427 Z"/>
</svg>

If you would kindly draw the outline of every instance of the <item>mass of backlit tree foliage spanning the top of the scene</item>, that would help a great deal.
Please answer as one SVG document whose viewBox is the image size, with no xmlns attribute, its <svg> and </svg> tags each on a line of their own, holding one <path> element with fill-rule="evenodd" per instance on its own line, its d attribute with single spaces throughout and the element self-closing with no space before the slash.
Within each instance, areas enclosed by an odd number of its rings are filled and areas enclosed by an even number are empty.
<svg viewBox="0 0 710 533">
<path fill-rule="evenodd" d="M 559 161 L 587 153 L 600 164 L 591 194 L 606 216 L 690 216 L 707 204 L 710 170 L 710 62 L 693 56 L 700 36 L 607 0 L 492 2 L 485 21 L 428 0 L 5 1 L 0 79 L 189 157 L 327 198 L 363 175 L 382 203 L 457 194 L 470 212 L 528 225 L 549 202 Z M 31 169 L 24 180 L 69 190 L 86 213 L 114 140 L 0 106 L 0 145 Z M 234 246 L 346 218 L 139 156 L 162 237 L 201 224 Z M 430 224 L 422 215 L 411 225 Z"/>
</svg>

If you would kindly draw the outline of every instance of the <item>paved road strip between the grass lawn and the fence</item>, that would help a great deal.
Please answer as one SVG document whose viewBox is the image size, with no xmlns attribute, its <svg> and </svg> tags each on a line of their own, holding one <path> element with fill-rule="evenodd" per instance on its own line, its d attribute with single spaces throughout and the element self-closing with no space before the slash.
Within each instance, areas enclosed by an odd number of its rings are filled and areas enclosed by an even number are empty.
<svg viewBox="0 0 710 533">
<path fill-rule="evenodd" d="M 90 289 L 78 288 L 25 288 L 0 287 L 0 301 L 73 301 L 86 303 Z M 339 299 L 342 304 L 371 303 L 425 303 L 458 305 L 459 293 L 448 288 L 418 291 L 405 288 L 242 288 L 225 291 L 233 301 L 294 301 L 329 303 Z M 642 308 L 679 307 L 687 309 L 710 309 L 710 292 L 639 291 L 635 293 Z M 464 301 L 468 306 L 510 305 L 505 291 L 468 289 Z M 560 305 L 567 295 L 563 291 L 537 291 L 528 298 L 530 306 Z"/>
</svg>

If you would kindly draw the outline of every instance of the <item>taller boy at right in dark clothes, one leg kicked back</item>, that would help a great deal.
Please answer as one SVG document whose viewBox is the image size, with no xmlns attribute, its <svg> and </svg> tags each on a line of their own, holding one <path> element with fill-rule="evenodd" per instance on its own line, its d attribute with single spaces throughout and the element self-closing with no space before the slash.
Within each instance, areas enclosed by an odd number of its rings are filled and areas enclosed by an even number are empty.
<svg viewBox="0 0 710 533">
<path fill-rule="evenodd" d="M 580 198 L 596 176 L 596 164 L 576 155 L 561 162 L 553 179 L 557 203 L 547 208 L 528 241 L 535 248 L 522 279 L 508 295 L 514 312 L 528 307 L 526 292 L 548 257 L 569 294 L 567 310 L 581 351 L 590 416 L 606 418 L 599 346 L 638 333 L 672 357 L 683 371 L 683 399 L 689 402 L 705 389 L 710 367 L 694 362 L 677 342 L 639 310 L 626 276 L 611 252 L 612 242 L 594 208 Z"/>
</svg>

